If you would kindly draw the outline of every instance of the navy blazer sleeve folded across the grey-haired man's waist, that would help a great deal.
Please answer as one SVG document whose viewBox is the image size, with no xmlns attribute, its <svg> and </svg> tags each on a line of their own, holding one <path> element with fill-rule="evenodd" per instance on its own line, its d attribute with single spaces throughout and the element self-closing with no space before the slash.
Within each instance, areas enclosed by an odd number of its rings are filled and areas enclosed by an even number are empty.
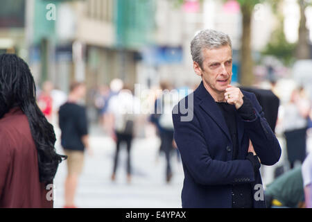
<svg viewBox="0 0 312 222">
<path fill-rule="evenodd" d="M 173 114 L 174 138 L 184 167 L 196 183 L 233 185 L 254 181 L 254 169 L 249 160 L 213 160 L 196 116 L 192 121 L 180 121 L 180 117 L 180 114 Z"/>
</svg>

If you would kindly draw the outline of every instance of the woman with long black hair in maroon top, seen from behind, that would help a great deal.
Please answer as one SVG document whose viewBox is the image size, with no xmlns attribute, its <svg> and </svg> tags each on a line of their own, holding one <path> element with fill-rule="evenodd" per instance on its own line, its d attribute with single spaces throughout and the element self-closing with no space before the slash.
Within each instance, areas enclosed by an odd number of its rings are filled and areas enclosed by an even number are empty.
<svg viewBox="0 0 312 222">
<path fill-rule="evenodd" d="M 58 164 L 53 126 L 37 106 L 24 60 L 0 55 L 0 207 L 53 207 Z"/>
</svg>

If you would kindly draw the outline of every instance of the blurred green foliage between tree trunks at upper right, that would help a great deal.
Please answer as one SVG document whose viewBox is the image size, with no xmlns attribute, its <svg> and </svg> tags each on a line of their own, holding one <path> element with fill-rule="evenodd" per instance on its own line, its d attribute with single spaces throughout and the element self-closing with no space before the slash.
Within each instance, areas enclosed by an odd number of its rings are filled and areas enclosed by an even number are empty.
<svg viewBox="0 0 312 222">
<path fill-rule="evenodd" d="M 284 65 L 291 65 L 294 60 L 296 44 L 287 42 L 282 26 L 279 26 L 271 35 L 271 40 L 266 48 L 261 52 L 262 55 L 270 55 L 279 58 Z"/>
</svg>

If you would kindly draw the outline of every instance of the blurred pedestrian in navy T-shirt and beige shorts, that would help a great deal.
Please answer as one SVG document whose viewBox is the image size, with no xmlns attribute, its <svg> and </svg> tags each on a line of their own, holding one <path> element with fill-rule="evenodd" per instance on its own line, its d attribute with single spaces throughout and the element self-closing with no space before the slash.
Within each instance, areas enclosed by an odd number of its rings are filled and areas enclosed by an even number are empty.
<svg viewBox="0 0 312 222">
<path fill-rule="evenodd" d="M 74 198 L 78 185 L 78 178 L 83 171 L 85 148 L 92 155 L 89 147 L 88 123 L 85 106 L 80 100 L 86 93 L 84 83 L 72 83 L 68 101 L 60 107 L 59 124 L 61 144 L 68 156 L 67 178 L 65 181 L 65 208 L 75 208 Z"/>
</svg>

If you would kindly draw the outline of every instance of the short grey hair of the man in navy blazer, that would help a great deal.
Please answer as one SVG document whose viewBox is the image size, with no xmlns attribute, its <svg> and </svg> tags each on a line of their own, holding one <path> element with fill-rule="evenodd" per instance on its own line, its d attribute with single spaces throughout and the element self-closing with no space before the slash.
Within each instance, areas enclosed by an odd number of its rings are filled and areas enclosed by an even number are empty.
<svg viewBox="0 0 312 222">
<path fill-rule="evenodd" d="M 229 35 L 212 29 L 200 31 L 191 42 L 191 55 L 194 62 L 202 68 L 202 50 L 218 49 L 221 46 L 229 46 L 232 49 L 232 42 Z"/>
</svg>

